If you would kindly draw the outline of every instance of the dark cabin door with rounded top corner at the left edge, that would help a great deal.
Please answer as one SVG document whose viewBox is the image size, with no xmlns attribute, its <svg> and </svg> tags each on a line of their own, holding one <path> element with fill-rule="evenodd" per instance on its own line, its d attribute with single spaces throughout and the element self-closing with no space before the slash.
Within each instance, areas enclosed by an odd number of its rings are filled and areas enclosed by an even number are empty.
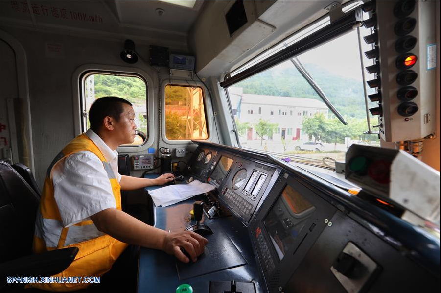
<svg viewBox="0 0 441 293">
<path fill-rule="evenodd" d="M 0 39 L 0 160 L 17 163 L 17 131 L 14 104 L 18 100 L 15 53 Z"/>
</svg>

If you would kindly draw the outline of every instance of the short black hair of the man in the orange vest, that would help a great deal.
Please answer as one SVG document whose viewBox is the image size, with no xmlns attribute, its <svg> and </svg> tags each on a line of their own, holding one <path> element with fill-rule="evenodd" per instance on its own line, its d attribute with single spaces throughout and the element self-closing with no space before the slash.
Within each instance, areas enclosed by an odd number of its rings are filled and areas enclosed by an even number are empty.
<svg viewBox="0 0 441 293">
<path fill-rule="evenodd" d="M 132 106 L 131 102 L 119 97 L 102 97 L 96 99 L 89 110 L 91 129 L 97 132 L 101 128 L 104 117 L 106 116 L 110 116 L 116 119 L 116 121 L 119 121 L 121 113 L 124 112 L 122 104 Z"/>
</svg>

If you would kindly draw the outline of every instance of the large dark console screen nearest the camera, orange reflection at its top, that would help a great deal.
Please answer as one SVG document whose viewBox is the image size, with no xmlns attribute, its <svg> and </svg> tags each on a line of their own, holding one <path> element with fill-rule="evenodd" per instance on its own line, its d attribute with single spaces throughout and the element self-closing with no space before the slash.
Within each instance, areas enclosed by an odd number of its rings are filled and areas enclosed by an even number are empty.
<svg viewBox="0 0 441 293">
<path fill-rule="evenodd" d="M 287 185 L 263 223 L 281 260 L 292 247 L 315 207 L 299 192 Z"/>
</svg>

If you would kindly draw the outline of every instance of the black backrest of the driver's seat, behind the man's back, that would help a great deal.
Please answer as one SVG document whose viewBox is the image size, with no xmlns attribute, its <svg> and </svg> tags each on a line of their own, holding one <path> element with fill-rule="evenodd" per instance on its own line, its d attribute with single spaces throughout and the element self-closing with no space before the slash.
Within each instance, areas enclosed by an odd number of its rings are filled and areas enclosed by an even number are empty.
<svg viewBox="0 0 441 293">
<path fill-rule="evenodd" d="M 39 202 L 19 173 L 0 161 L 0 263 L 32 253 Z"/>
</svg>

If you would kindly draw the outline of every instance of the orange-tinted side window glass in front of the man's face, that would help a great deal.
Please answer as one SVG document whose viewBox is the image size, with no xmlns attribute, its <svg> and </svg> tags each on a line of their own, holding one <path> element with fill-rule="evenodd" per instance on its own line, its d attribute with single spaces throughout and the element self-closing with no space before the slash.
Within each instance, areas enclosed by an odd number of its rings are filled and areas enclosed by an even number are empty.
<svg viewBox="0 0 441 293">
<path fill-rule="evenodd" d="M 165 86 L 165 137 L 169 140 L 208 139 L 204 91 L 201 87 Z"/>
</svg>

